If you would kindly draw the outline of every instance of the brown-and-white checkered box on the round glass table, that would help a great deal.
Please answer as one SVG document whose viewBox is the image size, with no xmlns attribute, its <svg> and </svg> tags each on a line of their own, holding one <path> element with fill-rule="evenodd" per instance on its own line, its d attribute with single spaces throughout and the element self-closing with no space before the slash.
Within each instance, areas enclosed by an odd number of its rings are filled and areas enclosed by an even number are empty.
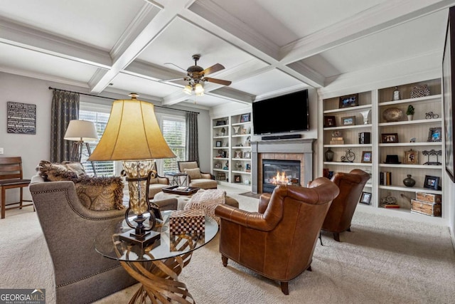
<svg viewBox="0 0 455 304">
<path fill-rule="evenodd" d="M 203 210 L 172 211 L 169 217 L 170 234 L 199 234 L 205 232 L 205 212 Z"/>
</svg>

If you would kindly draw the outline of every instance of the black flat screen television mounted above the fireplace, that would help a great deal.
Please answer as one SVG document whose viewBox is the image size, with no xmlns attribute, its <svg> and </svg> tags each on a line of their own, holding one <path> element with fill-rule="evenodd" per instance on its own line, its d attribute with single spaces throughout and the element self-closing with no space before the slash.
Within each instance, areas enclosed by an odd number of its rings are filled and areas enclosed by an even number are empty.
<svg viewBox="0 0 455 304">
<path fill-rule="evenodd" d="M 255 135 L 309 130 L 308 90 L 252 103 Z"/>
</svg>

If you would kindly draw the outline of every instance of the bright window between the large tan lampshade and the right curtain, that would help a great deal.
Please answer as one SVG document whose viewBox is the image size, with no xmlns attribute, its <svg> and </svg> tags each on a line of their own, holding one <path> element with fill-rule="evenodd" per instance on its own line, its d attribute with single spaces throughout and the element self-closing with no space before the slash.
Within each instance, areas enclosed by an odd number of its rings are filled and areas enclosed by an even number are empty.
<svg viewBox="0 0 455 304">
<path fill-rule="evenodd" d="M 157 115 L 158 116 L 158 115 Z M 176 154 L 176 158 L 162 159 L 161 166 L 164 173 L 178 172 L 178 161 L 186 160 L 186 121 L 181 116 L 161 117 L 161 132 L 168 146 Z"/>
</svg>

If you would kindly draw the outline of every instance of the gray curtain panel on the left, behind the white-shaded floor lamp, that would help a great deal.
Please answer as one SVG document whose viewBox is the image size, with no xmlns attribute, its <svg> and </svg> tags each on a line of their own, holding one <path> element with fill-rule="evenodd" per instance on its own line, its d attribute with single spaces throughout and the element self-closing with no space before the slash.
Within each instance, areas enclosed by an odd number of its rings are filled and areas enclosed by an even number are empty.
<svg viewBox="0 0 455 304">
<path fill-rule="evenodd" d="M 63 140 L 70 120 L 79 118 L 80 95 L 64 90 L 53 90 L 50 117 L 50 162 L 70 159 L 73 142 Z"/>
</svg>

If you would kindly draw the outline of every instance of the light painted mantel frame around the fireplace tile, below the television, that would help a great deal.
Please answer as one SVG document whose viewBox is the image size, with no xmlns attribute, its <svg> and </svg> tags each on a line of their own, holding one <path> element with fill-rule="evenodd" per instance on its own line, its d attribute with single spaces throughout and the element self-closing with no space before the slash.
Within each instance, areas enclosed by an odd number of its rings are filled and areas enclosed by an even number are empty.
<svg viewBox="0 0 455 304">
<path fill-rule="evenodd" d="M 262 165 L 258 164 L 259 154 L 274 153 L 274 154 L 303 154 L 304 172 L 301 172 L 303 180 L 302 185 L 305 185 L 313 179 L 313 143 L 314 139 L 299 139 L 299 140 L 261 140 L 251 142 L 251 167 L 252 167 L 252 192 L 258 193 L 258 169 L 262 169 Z"/>
</svg>

